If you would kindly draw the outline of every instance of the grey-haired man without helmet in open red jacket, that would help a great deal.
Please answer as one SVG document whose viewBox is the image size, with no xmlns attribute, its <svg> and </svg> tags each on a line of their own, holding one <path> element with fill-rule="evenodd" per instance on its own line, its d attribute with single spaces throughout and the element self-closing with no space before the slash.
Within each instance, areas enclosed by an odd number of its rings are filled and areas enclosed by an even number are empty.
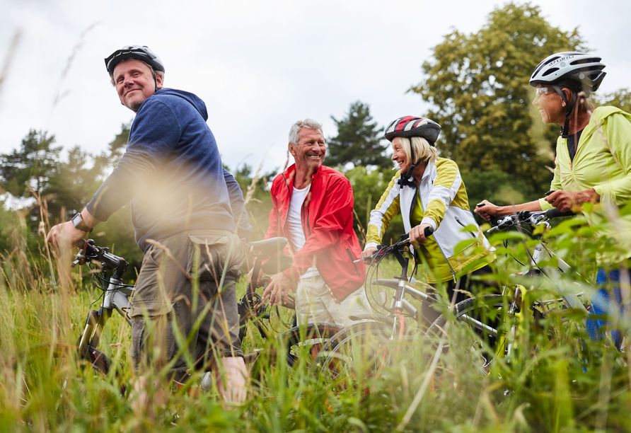
<svg viewBox="0 0 631 433">
<path fill-rule="evenodd" d="M 283 236 L 294 253 L 294 266 L 272 277 L 264 298 L 286 303 L 294 291 L 299 324 L 350 325 L 349 316 L 369 314 L 364 292 L 366 267 L 353 230 L 353 190 L 349 180 L 323 166 L 326 146 L 322 125 L 299 120 L 289 131 L 294 165 L 272 183 L 270 228 L 265 238 Z"/>
</svg>

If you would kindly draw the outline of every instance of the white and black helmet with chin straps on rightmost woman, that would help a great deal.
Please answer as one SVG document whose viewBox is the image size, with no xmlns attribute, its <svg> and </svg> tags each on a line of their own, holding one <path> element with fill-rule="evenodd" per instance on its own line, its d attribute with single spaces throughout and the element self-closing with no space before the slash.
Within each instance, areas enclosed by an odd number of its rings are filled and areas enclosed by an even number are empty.
<svg viewBox="0 0 631 433">
<path fill-rule="evenodd" d="M 598 90 L 607 74 L 603 71 L 604 68 L 605 65 L 601 63 L 600 57 L 584 52 L 564 51 L 546 57 L 533 71 L 531 86 L 536 87 L 539 84 L 551 86 L 565 102 L 565 125 L 561 128 L 562 138 L 567 138 L 569 134 L 569 115 L 576 105 L 578 93 L 584 91 L 585 97 L 589 98 L 591 92 Z M 562 81 L 569 80 L 579 82 L 580 86 L 562 84 Z M 572 92 L 572 100 L 567 100 L 561 88 L 567 88 Z"/>
</svg>

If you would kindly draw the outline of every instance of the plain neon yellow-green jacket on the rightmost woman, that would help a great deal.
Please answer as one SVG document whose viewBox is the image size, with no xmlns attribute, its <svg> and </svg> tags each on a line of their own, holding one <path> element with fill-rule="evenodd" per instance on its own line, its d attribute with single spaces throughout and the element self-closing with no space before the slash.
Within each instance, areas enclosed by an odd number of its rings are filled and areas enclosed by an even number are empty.
<svg viewBox="0 0 631 433">
<path fill-rule="evenodd" d="M 590 225 L 603 224 L 611 211 L 631 201 L 631 115 L 615 107 L 598 107 L 583 130 L 574 162 L 569 159 L 567 139 L 557 139 L 555 178 L 550 190 L 583 191 L 594 188 L 601 206 L 587 214 Z M 552 205 L 539 200 L 541 209 Z M 631 257 L 631 215 L 609 218 L 598 236 L 611 238 L 618 253 L 598 253 L 599 265 L 611 265 Z"/>
</svg>

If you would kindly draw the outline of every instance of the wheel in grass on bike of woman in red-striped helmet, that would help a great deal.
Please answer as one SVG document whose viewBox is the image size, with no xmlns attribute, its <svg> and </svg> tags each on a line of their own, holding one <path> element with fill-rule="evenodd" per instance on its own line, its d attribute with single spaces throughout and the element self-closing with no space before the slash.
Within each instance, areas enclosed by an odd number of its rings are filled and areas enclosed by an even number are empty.
<svg viewBox="0 0 631 433">
<path fill-rule="evenodd" d="M 381 322 L 358 323 L 337 333 L 313 364 L 318 381 L 335 394 L 395 390 L 419 383 L 426 369 L 422 335 L 392 336 L 393 327 Z M 405 383 L 405 384 L 404 384 Z"/>
</svg>

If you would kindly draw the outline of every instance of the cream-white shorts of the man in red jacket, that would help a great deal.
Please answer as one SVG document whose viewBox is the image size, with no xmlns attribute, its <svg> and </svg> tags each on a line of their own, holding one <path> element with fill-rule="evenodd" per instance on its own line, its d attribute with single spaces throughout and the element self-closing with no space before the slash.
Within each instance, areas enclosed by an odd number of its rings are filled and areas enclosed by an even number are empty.
<svg viewBox="0 0 631 433">
<path fill-rule="evenodd" d="M 320 275 L 299 279 L 295 297 L 299 325 L 315 322 L 349 326 L 366 321 L 352 321 L 349 316 L 365 316 L 372 313 L 364 287 L 359 287 L 344 301 L 336 303 Z"/>
</svg>

